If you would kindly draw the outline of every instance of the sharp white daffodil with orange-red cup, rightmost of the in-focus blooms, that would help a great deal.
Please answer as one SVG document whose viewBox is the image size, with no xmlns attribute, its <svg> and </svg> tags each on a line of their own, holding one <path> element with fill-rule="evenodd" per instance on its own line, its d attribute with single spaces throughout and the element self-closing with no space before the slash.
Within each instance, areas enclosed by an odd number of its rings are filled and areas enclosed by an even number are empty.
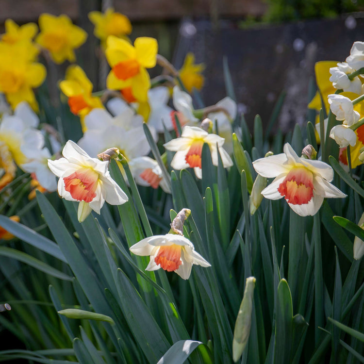
<svg viewBox="0 0 364 364">
<path fill-rule="evenodd" d="M 298 215 L 314 215 L 325 197 L 346 197 L 330 182 L 330 165 L 300 158 L 286 143 L 284 153 L 261 158 L 253 162 L 254 169 L 263 177 L 274 178 L 262 195 L 266 199 L 284 199 Z"/>
</svg>

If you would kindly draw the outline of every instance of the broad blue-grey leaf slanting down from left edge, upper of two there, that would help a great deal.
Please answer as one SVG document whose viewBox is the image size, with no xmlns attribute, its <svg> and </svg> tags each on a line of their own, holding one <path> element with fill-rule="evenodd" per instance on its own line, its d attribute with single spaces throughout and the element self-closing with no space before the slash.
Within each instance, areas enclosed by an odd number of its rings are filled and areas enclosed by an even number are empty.
<svg viewBox="0 0 364 364">
<path fill-rule="evenodd" d="M 9 217 L 0 215 L 0 226 L 3 227 L 6 231 L 11 232 L 20 240 L 32 245 L 35 248 L 38 248 L 51 256 L 61 260 L 62 262 L 67 263 L 65 256 L 63 255 L 61 249 L 52 242 L 50 239 L 47 239 L 43 235 L 34 232 L 33 229 L 28 228 L 27 226 L 20 224 L 19 222 L 10 220 Z"/>
</svg>

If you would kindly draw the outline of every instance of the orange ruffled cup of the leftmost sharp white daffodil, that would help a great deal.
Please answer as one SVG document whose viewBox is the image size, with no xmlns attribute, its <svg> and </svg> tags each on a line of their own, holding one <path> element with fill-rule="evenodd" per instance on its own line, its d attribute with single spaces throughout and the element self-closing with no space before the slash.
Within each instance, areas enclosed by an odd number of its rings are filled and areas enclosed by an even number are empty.
<svg viewBox="0 0 364 364">
<path fill-rule="evenodd" d="M 96 197 L 99 174 L 91 168 L 80 168 L 64 177 L 65 190 L 77 201 L 91 202 Z"/>
</svg>

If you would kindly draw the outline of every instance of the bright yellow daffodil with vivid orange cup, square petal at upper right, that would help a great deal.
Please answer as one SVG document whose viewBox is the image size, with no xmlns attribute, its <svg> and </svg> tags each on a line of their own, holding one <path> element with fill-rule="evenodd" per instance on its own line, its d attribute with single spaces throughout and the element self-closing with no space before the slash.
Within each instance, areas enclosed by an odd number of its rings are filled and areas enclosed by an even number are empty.
<svg viewBox="0 0 364 364">
<path fill-rule="evenodd" d="M 129 99 L 148 101 L 150 78 L 146 68 L 156 65 L 158 43 L 154 38 L 139 37 L 134 46 L 124 39 L 107 38 L 106 58 L 111 66 L 106 85 L 112 90 L 125 90 Z M 127 98 L 127 100 L 129 101 Z"/>
</svg>

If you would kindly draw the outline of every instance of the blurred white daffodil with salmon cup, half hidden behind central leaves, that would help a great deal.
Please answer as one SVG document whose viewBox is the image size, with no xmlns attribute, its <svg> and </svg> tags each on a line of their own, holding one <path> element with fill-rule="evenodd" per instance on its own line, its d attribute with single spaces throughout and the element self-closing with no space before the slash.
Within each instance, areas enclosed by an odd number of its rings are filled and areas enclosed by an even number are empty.
<svg viewBox="0 0 364 364">
<path fill-rule="evenodd" d="M 162 169 L 154 159 L 150 157 L 134 158 L 129 162 L 129 167 L 136 183 L 153 188 L 161 186 L 163 191 L 171 193 L 163 177 Z"/>
</svg>

